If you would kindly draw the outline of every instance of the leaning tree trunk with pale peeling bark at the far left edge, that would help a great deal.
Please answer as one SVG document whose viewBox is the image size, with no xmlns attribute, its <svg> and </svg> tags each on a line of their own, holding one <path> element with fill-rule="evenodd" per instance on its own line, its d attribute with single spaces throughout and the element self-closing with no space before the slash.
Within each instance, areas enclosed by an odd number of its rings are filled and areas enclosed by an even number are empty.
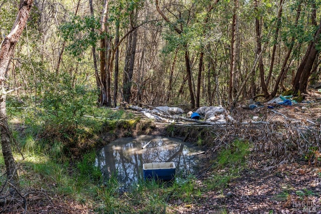
<svg viewBox="0 0 321 214">
<path fill-rule="evenodd" d="M 6 69 L 9 65 L 10 59 L 14 54 L 14 49 L 16 43 L 19 41 L 19 38 L 27 24 L 27 20 L 29 17 L 29 12 L 32 7 L 33 0 L 21 0 L 20 8 L 18 11 L 17 19 L 15 24 L 8 34 L 8 36 L 4 39 L 1 50 L 0 50 L 0 87 L 1 87 L 1 95 L 0 95 L 0 122 L 1 122 L 1 146 L 2 152 L 5 159 L 6 169 L 8 180 L 11 184 L 19 187 L 19 178 L 16 168 L 15 159 L 12 154 L 10 142 L 12 135 L 10 134 L 9 126 L 8 126 L 8 118 L 7 118 L 7 109 L 6 109 L 6 91 L 5 91 L 5 83 L 6 83 Z M 14 189 L 11 189 L 11 193 L 14 193 Z"/>
</svg>

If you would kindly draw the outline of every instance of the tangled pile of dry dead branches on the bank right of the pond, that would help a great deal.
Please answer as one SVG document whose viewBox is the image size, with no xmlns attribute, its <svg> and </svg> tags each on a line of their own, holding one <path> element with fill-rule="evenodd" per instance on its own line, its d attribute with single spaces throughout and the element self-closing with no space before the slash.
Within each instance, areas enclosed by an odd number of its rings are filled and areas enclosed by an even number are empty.
<svg viewBox="0 0 321 214">
<path fill-rule="evenodd" d="M 307 160 L 320 164 L 321 126 L 317 120 L 298 120 L 276 110 L 261 123 L 237 121 L 228 126 L 215 127 L 216 149 L 228 145 L 235 139 L 253 143 L 252 158 L 265 160 L 267 165 Z M 258 121 L 260 122 L 260 121 Z"/>
</svg>

